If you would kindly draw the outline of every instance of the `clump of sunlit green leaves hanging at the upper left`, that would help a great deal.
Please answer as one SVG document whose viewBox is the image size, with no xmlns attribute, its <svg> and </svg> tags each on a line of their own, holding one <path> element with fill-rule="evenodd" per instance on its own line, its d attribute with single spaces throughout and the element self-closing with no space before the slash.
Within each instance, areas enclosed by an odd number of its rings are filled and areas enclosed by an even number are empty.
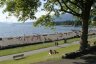
<svg viewBox="0 0 96 64">
<path fill-rule="evenodd" d="M 34 14 L 41 5 L 39 0 L 1 0 L 1 3 L 6 6 L 4 12 L 18 17 L 21 21 L 35 19 Z"/>
</svg>

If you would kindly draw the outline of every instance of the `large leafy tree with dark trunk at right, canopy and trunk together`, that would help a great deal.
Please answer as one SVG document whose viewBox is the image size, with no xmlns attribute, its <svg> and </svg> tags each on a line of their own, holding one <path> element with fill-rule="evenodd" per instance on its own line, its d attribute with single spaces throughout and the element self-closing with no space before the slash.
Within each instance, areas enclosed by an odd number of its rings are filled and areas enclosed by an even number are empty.
<svg viewBox="0 0 96 64">
<path fill-rule="evenodd" d="M 38 22 L 41 24 L 49 23 L 51 18 L 49 15 L 51 12 L 55 12 L 55 15 L 61 13 L 70 13 L 81 19 L 82 22 L 82 35 L 81 35 L 81 49 L 84 50 L 88 46 L 88 25 L 90 15 L 96 14 L 96 0 L 42 0 L 44 3 L 44 10 L 49 13 L 44 18 L 39 18 L 44 22 Z M 41 0 L 1 0 L 2 5 L 6 5 L 5 12 L 13 14 L 19 18 L 19 20 L 34 19 L 34 14 L 37 12 L 38 7 L 42 4 Z M 50 20 L 51 21 L 51 20 Z M 50 26 L 50 25 L 49 25 Z"/>
</svg>

